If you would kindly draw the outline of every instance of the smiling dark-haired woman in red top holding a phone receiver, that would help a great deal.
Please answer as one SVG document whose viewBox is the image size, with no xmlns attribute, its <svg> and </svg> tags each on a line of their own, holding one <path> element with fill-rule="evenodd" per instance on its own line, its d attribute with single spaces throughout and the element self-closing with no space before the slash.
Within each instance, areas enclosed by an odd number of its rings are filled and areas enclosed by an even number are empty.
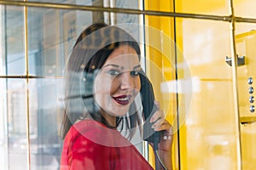
<svg viewBox="0 0 256 170">
<path fill-rule="evenodd" d="M 140 48 L 124 30 L 97 23 L 81 33 L 67 63 L 61 170 L 153 169 L 128 140 L 141 126 L 141 72 Z M 160 160 L 172 169 L 172 127 L 156 105 L 150 122 L 162 131 Z"/>
</svg>

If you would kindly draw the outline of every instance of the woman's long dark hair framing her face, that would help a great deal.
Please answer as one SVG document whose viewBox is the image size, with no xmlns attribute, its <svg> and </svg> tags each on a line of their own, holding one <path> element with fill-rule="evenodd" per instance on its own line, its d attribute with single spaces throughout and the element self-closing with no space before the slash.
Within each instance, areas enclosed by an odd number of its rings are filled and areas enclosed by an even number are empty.
<svg viewBox="0 0 256 170">
<path fill-rule="evenodd" d="M 108 26 L 105 23 L 96 23 L 89 26 L 80 34 L 67 62 L 65 74 L 65 110 L 63 111 L 61 124 L 62 139 L 65 138 L 69 128 L 72 127 L 74 122 L 88 117 L 87 113 L 89 113 L 90 117 L 97 122 L 102 122 L 107 127 L 112 128 L 99 111 L 91 111 L 90 109 L 84 111 L 84 105 L 94 108 L 98 106 L 93 97 L 89 100 L 83 98 L 80 89 L 84 88 L 84 85 L 80 82 L 82 82 L 83 78 L 86 79 L 84 75 L 93 74 L 95 71 L 100 70 L 113 50 L 123 44 L 127 44 L 131 46 L 131 48 L 134 48 L 140 59 L 140 48 L 136 40 L 119 27 Z M 92 84 L 93 82 L 86 84 L 87 87 L 85 88 L 93 89 L 92 87 L 88 87 L 92 86 Z M 93 92 L 91 92 L 91 94 L 93 95 Z M 88 101 L 91 102 L 91 105 L 88 104 Z M 131 104 L 129 112 L 130 111 L 132 111 L 133 114 L 116 118 L 116 127 L 121 123 L 121 129 L 123 129 L 123 127 L 131 129 L 131 137 L 135 132 L 134 127 L 140 124 L 140 119 L 134 102 Z"/>
</svg>

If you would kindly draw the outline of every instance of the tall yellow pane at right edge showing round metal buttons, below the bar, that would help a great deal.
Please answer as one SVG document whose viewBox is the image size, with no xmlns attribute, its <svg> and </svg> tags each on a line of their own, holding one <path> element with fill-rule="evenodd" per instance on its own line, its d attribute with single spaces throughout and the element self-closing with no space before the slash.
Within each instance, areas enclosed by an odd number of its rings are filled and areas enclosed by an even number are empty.
<svg viewBox="0 0 256 170">
<path fill-rule="evenodd" d="M 236 53 L 238 59 L 245 59 L 238 66 L 238 93 L 241 122 L 241 157 L 243 169 L 253 169 L 256 166 L 256 112 L 255 106 L 255 44 L 256 24 L 236 23 Z"/>
</svg>

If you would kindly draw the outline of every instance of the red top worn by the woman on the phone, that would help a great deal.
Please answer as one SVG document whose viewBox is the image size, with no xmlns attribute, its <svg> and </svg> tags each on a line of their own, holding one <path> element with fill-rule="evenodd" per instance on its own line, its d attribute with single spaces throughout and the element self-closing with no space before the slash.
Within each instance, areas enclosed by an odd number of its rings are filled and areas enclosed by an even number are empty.
<svg viewBox="0 0 256 170">
<path fill-rule="evenodd" d="M 61 170 L 153 169 L 136 147 L 117 130 L 84 120 L 71 127 L 64 139 Z"/>
</svg>

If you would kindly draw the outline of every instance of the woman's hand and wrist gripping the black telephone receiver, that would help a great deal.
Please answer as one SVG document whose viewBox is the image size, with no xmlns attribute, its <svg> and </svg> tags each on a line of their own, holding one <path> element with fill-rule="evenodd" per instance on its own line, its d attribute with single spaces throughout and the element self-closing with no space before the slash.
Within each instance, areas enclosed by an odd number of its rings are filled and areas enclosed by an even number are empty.
<svg viewBox="0 0 256 170">
<path fill-rule="evenodd" d="M 160 110 L 160 104 L 158 102 L 154 102 L 154 104 L 157 106 L 158 111 L 151 117 L 150 122 L 154 122 L 152 126 L 154 131 L 162 131 L 160 135 L 159 150 L 171 153 L 173 142 L 172 125 L 166 121 L 164 111 Z"/>
</svg>

